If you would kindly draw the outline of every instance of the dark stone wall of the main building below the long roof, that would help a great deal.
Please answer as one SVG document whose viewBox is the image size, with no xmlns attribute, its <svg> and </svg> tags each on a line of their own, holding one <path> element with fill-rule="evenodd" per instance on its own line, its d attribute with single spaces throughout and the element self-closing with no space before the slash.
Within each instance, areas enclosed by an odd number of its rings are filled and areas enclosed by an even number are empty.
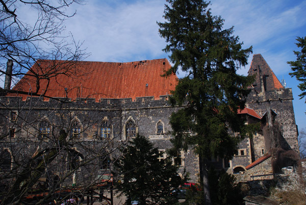
<svg viewBox="0 0 306 205">
<path fill-rule="evenodd" d="M 128 120 L 133 120 L 137 127 L 137 133 L 146 136 L 159 150 L 165 151 L 172 146 L 170 142 L 171 127 L 169 117 L 172 112 L 179 108 L 172 107 L 168 101 L 169 96 L 161 96 L 159 100 L 154 97 L 141 97 L 133 101 L 126 99 L 78 99 L 69 102 L 69 99 L 45 100 L 43 98 L 29 98 L 22 100 L 18 97 L 1 97 L 0 101 L 6 107 L 0 108 L 0 113 L 4 118 L 0 118 L 3 129 L 0 134 L 8 132 L 9 127 L 16 130 L 15 138 L 5 138 L 3 142 L 17 142 L 20 138 L 27 140 L 30 147 L 35 149 L 41 141 L 37 139 L 39 134 L 39 123 L 46 120 L 52 125 L 52 133 L 58 136 L 61 129 L 70 131 L 70 124 L 78 120 L 82 125 L 81 138 L 73 143 L 82 143 L 99 140 L 99 127 L 103 120 L 108 120 L 112 125 L 112 139 L 114 143 L 123 143 L 126 139 L 125 124 Z M 24 98 L 23 98 L 24 99 Z M 16 121 L 10 121 L 11 111 L 18 114 Z M 163 124 L 163 135 L 157 135 L 157 123 Z M 19 129 L 21 128 L 22 129 Z M 29 155 L 35 150 L 29 150 Z M 166 153 L 165 153 L 166 155 Z M 184 172 L 184 168 L 190 173 L 192 182 L 198 179 L 199 167 L 198 158 L 192 150 L 183 152 L 182 166 L 179 171 Z"/>
</svg>

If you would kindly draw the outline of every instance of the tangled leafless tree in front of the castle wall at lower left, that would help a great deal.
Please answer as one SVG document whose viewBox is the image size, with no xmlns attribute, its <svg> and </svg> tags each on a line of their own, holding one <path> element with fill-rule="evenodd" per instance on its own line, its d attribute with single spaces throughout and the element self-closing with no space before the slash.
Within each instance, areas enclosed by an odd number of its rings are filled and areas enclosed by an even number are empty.
<svg viewBox="0 0 306 205">
<path fill-rule="evenodd" d="M 7 130 L 10 134 L 0 143 L 1 204 L 41 204 L 91 195 L 107 180 L 105 176 L 111 176 L 120 155 L 117 150 L 126 145 L 107 128 L 111 125 L 105 116 L 113 117 L 110 109 L 89 111 L 84 99 L 39 105 L 41 101 L 11 100 L 10 108 L 0 109 L 0 119 L 7 119 L 0 134 Z M 45 104 L 50 107 L 45 109 Z"/>
</svg>

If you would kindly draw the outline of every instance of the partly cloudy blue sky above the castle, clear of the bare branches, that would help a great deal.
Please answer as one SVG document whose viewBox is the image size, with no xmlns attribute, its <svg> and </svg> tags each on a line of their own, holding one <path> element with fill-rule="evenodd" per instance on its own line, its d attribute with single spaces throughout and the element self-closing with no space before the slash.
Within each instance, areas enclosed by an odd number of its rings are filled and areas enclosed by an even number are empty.
<svg viewBox="0 0 306 205">
<path fill-rule="evenodd" d="M 164 21 L 165 0 L 90 0 L 85 5 L 70 7 L 77 14 L 68 19 L 67 32 L 84 41 L 91 55 L 87 61 L 130 62 L 167 58 L 162 52 L 166 42 L 158 34 L 157 21 Z M 306 36 L 306 1 L 292 0 L 215 0 L 213 15 L 220 15 L 224 28 L 234 26 L 235 35 L 253 54 L 262 54 L 279 81 L 286 80 L 294 95 L 296 123 L 306 127 L 304 99 L 299 99 L 298 82 L 289 76 L 287 61 L 294 61 L 297 36 Z M 22 12 L 31 19 L 31 12 Z M 249 63 L 252 56 L 249 58 Z M 238 73 L 246 74 L 249 65 Z M 182 77 L 184 73 L 180 73 Z"/>
</svg>

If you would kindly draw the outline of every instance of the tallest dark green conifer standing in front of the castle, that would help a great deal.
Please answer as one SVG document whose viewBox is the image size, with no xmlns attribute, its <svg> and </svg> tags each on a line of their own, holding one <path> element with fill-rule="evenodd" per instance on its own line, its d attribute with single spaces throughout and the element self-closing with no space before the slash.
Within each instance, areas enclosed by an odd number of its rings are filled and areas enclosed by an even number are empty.
<svg viewBox="0 0 306 205">
<path fill-rule="evenodd" d="M 237 114 L 245 107 L 251 76 L 236 70 L 247 64 L 252 47 L 242 49 L 233 27 L 223 29 L 223 19 L 212 16 L 209 2 L 202 0 L 166 0 L 165 22 L 158 22 L 164 48 L 174 64 L 166 74 L 179 68 L 188 75 L 179 80 L 171 98 L 173 105 L 185 105 L 170 117 L 173 135 L 172 155 L 194 147 L 199 156 L 200 177 L 206 204 L 211 204 L 208 167 L 212 158 L 231 159 L 240 138 L 251 133 Z"/>
</svg>

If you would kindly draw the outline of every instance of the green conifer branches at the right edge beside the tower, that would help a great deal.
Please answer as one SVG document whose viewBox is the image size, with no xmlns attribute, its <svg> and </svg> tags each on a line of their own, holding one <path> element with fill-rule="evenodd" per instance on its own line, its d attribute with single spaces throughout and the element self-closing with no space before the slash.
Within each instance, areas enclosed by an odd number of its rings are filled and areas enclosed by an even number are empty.
<svg viewBox="0 0 306 205">
<path fill-rule="evenodd" d="M 291 66 L 293 72 L 289 73 L 291 77 L 295 78 L 301 83 L 298 88 L 302 91 L 299 94 L 300 99 L 306 96 L 306 37 L 297 37 L 297 47 L 301 48 L 301 51 L 293 51 L 296 55 L 296 61 L 287 62 Z"/>
</svg>

